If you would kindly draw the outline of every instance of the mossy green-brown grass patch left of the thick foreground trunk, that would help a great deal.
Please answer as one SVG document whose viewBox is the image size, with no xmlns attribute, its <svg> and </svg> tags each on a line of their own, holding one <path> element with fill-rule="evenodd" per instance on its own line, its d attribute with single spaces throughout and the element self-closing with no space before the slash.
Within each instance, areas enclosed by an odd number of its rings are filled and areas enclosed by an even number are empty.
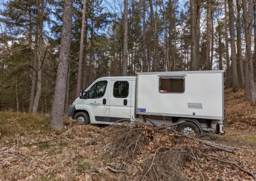
<svg viewBox="0 0 256 181">
<path fill-rule="evenodd" d="M 52 130 L 48 119 L 48 114 L 0 111 L 0 139 L 17 134 L 45 134 Z"/>
</svg>

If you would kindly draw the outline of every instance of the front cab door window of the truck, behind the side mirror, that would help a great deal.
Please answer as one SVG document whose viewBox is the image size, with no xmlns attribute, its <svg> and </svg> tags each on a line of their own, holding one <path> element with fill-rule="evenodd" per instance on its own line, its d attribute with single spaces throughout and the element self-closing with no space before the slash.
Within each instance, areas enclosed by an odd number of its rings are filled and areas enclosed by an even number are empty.
<svg viewBox="0 0 256 181">
<path fill-rule="evenodd" d="M 95 83 L 88 91 L 88 98 L 103 97 L 106 92 L 107 83 L 108 82 L 106 80 Z"/>
</svg>

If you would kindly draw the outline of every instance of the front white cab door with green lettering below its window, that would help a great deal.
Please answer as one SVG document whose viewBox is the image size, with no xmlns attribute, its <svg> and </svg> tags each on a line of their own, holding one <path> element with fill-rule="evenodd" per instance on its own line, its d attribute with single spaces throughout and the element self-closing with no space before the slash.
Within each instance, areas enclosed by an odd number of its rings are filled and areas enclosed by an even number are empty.
<svg viewBox="0 0 256 181">
<path fill-rule="evenodd" d="M 85 100 L 85 104 L 90 107 L 92 111 L 91 123 L 102 123 L 105 118 L 107 102 L 108 102 L 108 94 L 109 94 L 109 86 L 107 80 L 100 80 L 93 84 L 87 91 L 87 99 Z"/>
</svg>

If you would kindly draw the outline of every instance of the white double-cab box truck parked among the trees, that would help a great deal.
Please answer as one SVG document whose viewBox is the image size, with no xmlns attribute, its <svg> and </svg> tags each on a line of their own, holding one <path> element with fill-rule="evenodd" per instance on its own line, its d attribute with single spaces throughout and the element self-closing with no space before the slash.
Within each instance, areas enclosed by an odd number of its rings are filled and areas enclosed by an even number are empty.
<svg viewBox="0 0 256 181">
<path fill-rule="evenodd" d="M 224 71 L 141 72 L 102 77 L 81 91 L 68 116 L 79 124 L 110 125 L 136 120 L 170 125 L 188 134 L 223 134 Z"/>
</svg>

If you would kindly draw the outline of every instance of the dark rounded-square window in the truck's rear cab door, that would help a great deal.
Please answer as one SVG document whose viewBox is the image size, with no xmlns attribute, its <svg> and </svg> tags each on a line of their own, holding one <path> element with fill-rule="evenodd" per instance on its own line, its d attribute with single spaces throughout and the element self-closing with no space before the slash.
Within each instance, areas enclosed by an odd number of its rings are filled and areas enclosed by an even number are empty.
<svg viewBox="0 0 256 181">
<path fill-rule="evenodd" d="M 116 98 L 125 98 L 129 95 L 129 83 L 127 81 L 116 81 L 114 83 L 113 95 Z"/>
</svg>

